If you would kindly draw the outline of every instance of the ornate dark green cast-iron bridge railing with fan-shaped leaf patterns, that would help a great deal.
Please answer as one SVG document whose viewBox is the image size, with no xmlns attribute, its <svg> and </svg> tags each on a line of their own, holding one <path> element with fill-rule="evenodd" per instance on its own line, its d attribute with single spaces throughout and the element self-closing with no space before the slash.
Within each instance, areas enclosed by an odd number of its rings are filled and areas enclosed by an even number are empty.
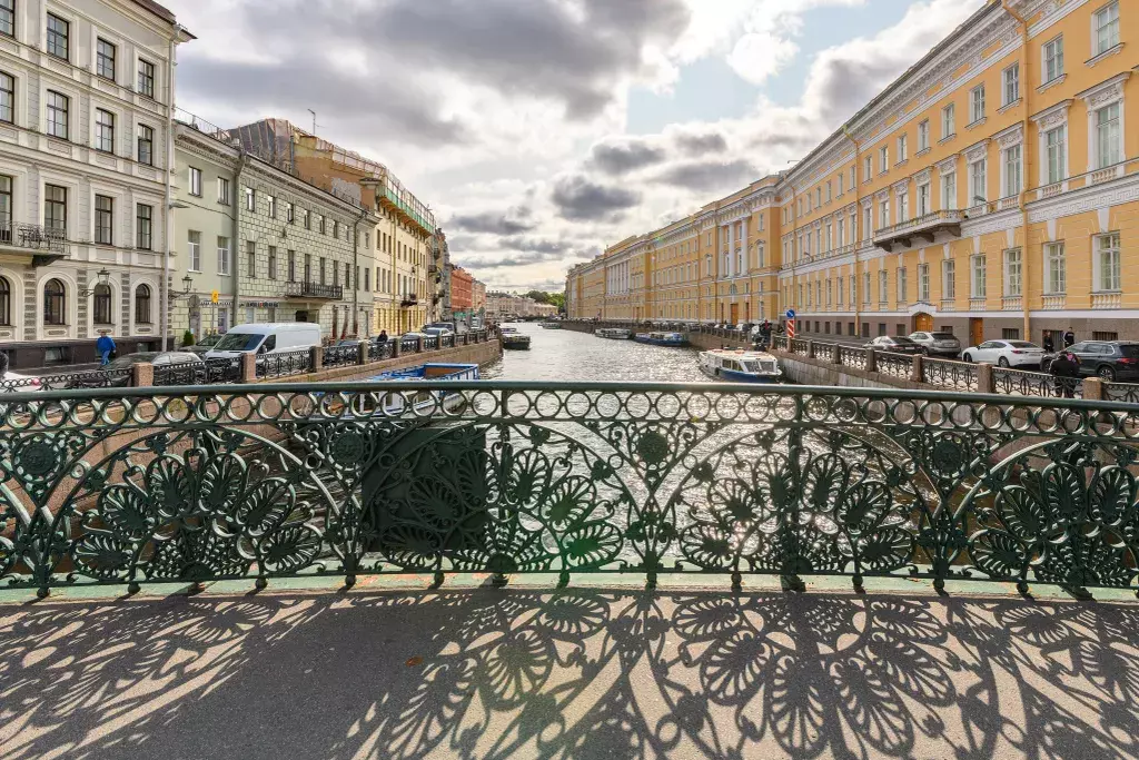
<svg viewBox="0 0 1139 760">
<path fill-rule="evenodd" d="M 487 572 L 1136 588 L 1139 406 L 732 385 L 0 397 L 0 583 Z"/>
</svg>

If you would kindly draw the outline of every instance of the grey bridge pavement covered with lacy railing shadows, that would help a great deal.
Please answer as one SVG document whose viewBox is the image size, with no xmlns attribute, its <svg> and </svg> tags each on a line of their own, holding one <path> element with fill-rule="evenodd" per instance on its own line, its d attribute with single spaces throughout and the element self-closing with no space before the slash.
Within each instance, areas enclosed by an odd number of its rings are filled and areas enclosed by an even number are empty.
<svg viewBox="0 0 1139 760">
<path fill-rule="evenodd" d="M 0 755 L 1136 757 L 1131 605 L 572 589 L 0 607 Z"/>
</svg>

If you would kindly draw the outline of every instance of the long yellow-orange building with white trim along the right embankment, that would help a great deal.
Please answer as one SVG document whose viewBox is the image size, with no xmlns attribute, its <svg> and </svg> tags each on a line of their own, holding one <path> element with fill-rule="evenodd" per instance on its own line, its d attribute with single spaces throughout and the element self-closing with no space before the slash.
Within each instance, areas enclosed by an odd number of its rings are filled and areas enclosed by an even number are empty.
<svg viewBox="0 0 1139 760">
<path fill-rule="evenodd" d="M 990 2 L 793 170 L 575 268 L 570 314 L 1139 340 L 1137 68 L 1139 3 Z"/>
</svg>

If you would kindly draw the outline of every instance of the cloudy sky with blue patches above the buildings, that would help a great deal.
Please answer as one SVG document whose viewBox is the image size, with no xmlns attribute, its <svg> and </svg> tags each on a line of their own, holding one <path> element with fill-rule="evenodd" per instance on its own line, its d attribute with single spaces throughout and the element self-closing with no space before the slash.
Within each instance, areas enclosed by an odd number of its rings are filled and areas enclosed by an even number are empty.
<svg viewBox="0 0 1139 760">
<path fill-rule="evenodd" d="M 163 0 L 178 105 L 384 163 L 493 289 L 808 154 L 983 0 Z"/>
</svg>

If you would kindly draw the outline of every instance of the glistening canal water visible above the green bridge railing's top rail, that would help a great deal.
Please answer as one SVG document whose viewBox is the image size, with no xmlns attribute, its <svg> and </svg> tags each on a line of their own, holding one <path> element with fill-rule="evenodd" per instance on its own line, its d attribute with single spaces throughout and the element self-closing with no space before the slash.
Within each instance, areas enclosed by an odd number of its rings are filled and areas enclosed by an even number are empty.
<svg viewBox="0 0 1139 760">
<path fill-rule="evenodd" d="M 503 351 L 480 373 L 483 379 L 535 382 L 708 383 L 695 349 L 665 349 L 611 341 L 588 333 L 510 325 L 530 336 L 530 351 Z"/>
</svg>

